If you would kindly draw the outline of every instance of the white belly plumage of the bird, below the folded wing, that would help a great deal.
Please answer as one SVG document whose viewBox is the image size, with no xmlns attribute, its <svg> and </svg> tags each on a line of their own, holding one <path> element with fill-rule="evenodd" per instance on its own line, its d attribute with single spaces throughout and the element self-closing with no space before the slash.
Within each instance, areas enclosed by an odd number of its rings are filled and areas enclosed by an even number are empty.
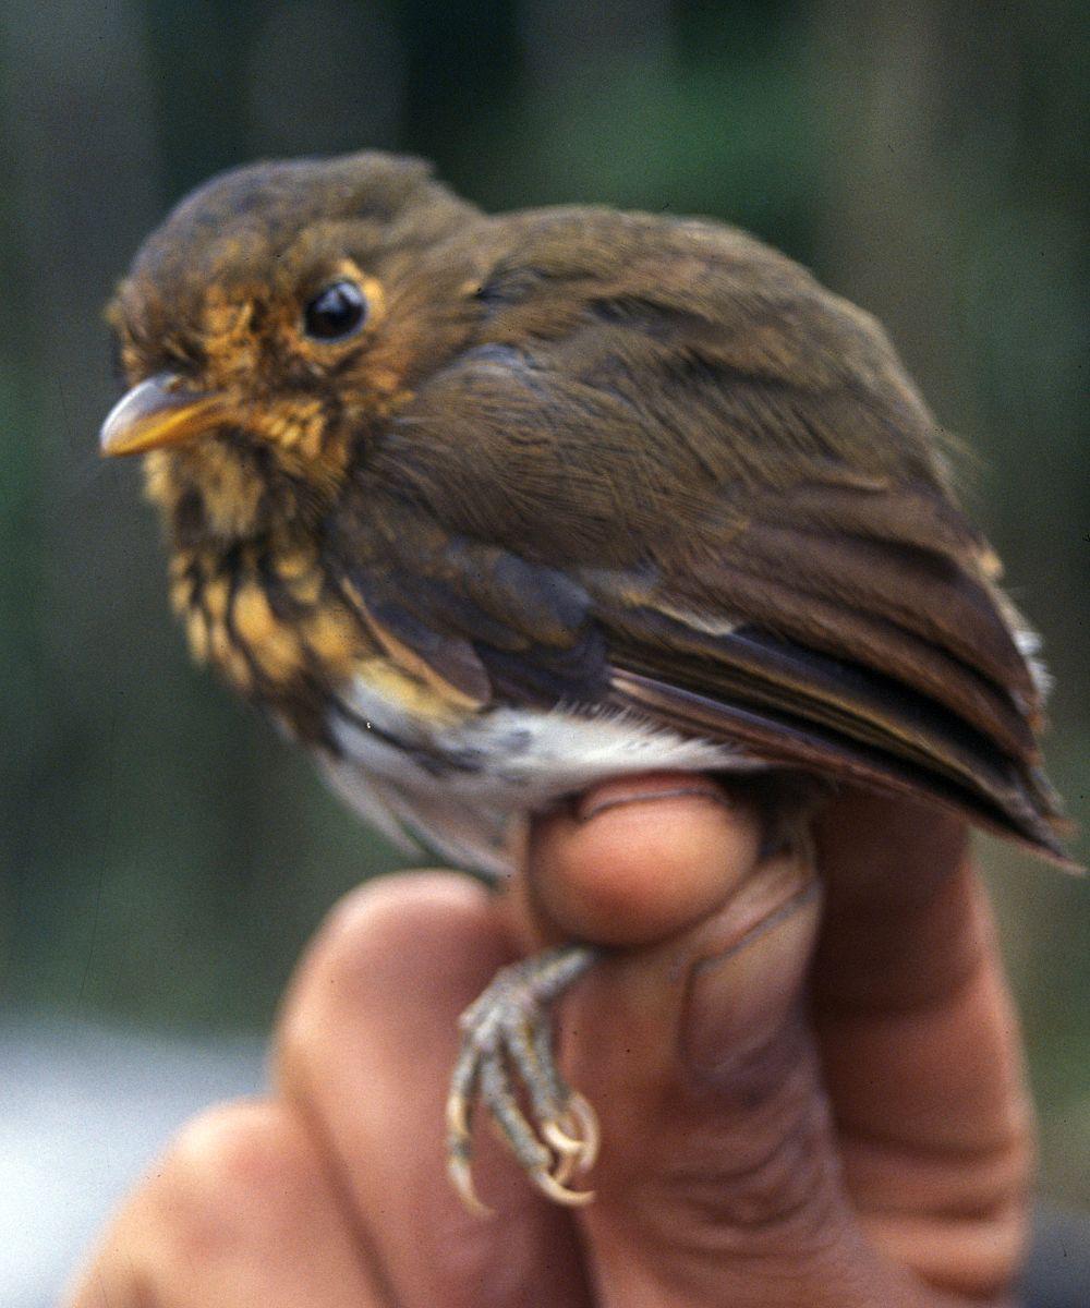
<svg viewBox="0 0 1090 1308">
<path fill-rule="evenodd" d="M 510 823 L 608 777 L 633 772 L 752 770 L 725 744 L 691 739 L 632 713 L 499 708 L 421 723 L 357 678 L 331 718 L 342 756 L 332 786 L 406 850 L 413 837 L 463 867 L 510 871 Z"/>
</svg>

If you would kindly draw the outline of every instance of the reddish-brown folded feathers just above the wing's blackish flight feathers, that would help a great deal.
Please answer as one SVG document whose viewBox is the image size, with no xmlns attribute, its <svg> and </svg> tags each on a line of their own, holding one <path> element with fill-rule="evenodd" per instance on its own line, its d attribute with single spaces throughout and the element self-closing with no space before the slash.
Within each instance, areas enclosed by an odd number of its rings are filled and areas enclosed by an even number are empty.
<svg viewBox="0 0 1090 1308">
<path fill-rule="evenodd" d="M 717 557 L 662 578 L 669 612 L 734 617 L 885 676 L 959 714 L 1005 752 L 1036 760 L 1040 692 L 976 570 L 934 551 L 862 540 L 830 526 L 752 522 Z M 624 615 L 618 613 L 618 621 Z"/>
</svg>

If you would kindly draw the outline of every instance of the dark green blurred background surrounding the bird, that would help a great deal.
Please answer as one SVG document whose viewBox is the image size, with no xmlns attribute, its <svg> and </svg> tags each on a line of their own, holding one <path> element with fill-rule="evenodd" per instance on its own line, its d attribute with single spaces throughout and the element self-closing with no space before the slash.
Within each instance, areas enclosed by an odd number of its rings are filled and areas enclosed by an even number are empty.
<svg viewBox="0 0 1090 1308">
<path fill-rule="evenodd" d="M 1077 0 L 7 0 L 7 1014 L 264 1027 L 328 905 L 396 865 L 188 666 L 136 468 L 96 454 L 114 280 L 191 186 L 259 156 L 385 146 L 489 208 L 717 215 L 878 314 L 977 451 L 966 498 L 1046 634 L 1052 772 L 1087 829 L 1083 14 Z M 1090 888 L 981 848 L 1044 1190 L 1090 1202 Z"/>
</svg>

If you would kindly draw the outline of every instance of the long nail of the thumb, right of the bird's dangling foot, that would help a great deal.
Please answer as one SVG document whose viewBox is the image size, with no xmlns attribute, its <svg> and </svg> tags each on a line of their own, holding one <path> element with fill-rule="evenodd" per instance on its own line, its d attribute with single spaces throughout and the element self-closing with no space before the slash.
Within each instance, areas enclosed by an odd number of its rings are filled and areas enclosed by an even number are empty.
<svg viewBox="0 0 1090 1308">
<path fill-rule="evenodd" d="M 775 1036 L 801 993 L 819 905 L 820 887 L 811 880 L 722 952 L 697 963 L 680 1037 L 694 1071 L 728 1075 Z"/>
</svg>

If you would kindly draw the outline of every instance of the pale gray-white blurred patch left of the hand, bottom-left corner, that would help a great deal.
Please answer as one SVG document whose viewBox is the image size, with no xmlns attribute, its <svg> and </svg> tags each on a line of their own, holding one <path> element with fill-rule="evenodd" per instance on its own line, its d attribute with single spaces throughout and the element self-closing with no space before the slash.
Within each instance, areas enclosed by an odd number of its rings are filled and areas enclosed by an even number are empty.
<svg viewBox="0 0 1090 1308">
<path fill-rule="evenodd" d="M 250 1037 L 0 1025 L 0 1303 L 50 1308 L 105 1214 L 204 1105 L 263 1083 Z"/>
</svg>

